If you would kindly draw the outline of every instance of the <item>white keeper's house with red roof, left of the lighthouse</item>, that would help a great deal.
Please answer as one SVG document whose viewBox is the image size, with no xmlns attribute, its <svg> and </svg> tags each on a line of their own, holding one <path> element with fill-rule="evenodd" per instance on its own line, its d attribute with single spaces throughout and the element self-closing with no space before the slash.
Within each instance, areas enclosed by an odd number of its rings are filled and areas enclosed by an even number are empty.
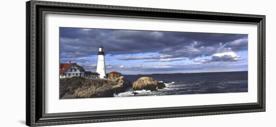
<svg viewBox="0 0 276 127">
<path fill-rule="evenodd" d="M 60 63 L 60 78 L 68 78 L 73 76 L 82 76 L 86 78 L 98 78 L 97 72 L 85 71 L 83 67 L 76 62 Z"/>
</svg>

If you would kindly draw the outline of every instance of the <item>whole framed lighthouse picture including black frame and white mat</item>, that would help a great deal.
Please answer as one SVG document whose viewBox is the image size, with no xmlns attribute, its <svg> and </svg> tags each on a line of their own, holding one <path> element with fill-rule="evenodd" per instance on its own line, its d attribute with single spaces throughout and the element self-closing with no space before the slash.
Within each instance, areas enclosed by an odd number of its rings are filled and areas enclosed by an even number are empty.
<svg viewBox="0 0 276 127">
<path fill-rule="evenodd" d="M 265 15 L 31 0 L 26 124 L 265 111 Z"/>
</svg>

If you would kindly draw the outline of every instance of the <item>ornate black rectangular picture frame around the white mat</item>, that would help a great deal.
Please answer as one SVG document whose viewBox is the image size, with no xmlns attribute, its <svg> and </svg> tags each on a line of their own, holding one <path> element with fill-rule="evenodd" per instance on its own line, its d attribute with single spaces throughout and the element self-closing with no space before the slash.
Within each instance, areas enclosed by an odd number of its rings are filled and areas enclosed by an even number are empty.
<svg viewBox="0 0 276 127">
<path fill-rule="evenodd" d="M 45 113 L 45 13 L 102 15 L 257 25 L 257 102 L 105 111 Z M 26 125 L 44 126 L 119 120 L 265 111 L 265 15 L 98 5 L 53 1 L 26 2 Z"/>
</svg>

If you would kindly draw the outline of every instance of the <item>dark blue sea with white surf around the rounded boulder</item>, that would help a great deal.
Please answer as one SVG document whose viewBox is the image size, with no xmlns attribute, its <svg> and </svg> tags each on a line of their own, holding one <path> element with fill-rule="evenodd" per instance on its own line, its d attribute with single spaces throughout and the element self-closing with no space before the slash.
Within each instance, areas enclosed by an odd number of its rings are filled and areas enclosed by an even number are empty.
<svg viewBox="0 0 276 127">
<path fill-rule="evenodd" d="M 153 77 L 164 82 L 166 88 L 158 91 L 137 90 L 135 95 L 129 88 L 114 96 L 247 92 L 247 74 L 248 71 L 124 75 L 131 82 L 143 76 Z"/>
</svg>

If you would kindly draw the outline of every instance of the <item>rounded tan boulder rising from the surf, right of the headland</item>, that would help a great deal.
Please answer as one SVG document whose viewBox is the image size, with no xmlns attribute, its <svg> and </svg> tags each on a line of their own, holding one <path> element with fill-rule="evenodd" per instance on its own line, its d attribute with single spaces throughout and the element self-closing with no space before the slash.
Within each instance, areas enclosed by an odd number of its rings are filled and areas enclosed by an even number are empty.
<svg viewBox="0 0 276 127">
<path fill-rule="evenodd" d="M 166 85 L 162 82 L 158 82 L 157 80 L 154 80 L 152 77 L 140 77 L 138 80 L 133 82 L 132 88 L 133 90 L 157 90 L 157 89 L 163 89 L 166 87 Z"/>
</svg>

